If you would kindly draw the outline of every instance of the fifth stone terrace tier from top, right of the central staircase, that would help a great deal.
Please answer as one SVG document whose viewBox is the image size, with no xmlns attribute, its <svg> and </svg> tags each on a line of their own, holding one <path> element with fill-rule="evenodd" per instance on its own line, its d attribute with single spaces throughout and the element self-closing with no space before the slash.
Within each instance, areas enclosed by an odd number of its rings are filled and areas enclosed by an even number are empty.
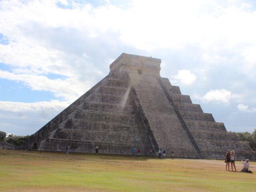
<svg viewBox="0 0 256 192">
<path fill-rule="evenodd" d="M 215 122 L 212 114 L 202 112 L 192 112 L 179 110 L 180 115 L 184 120 L 199 120 L 199 121 L 212 121 Z"/>
</svg>

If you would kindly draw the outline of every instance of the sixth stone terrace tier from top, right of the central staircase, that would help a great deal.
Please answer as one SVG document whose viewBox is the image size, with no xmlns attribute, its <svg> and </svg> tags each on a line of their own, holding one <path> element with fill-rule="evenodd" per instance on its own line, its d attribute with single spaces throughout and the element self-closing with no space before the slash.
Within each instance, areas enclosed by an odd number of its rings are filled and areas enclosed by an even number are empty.
<svg viewBox="0 0 256 192">
<path fill-rule="evenodd" d="M 186 126 L 189 130 L 193 128 L 202 129 L 202 130 L 223 130 L 226 131 L 226 128 L 223 123 L 212 122 L 212 121 L 200 121 L 200 120 L 184 120 Z"/>
</svg>

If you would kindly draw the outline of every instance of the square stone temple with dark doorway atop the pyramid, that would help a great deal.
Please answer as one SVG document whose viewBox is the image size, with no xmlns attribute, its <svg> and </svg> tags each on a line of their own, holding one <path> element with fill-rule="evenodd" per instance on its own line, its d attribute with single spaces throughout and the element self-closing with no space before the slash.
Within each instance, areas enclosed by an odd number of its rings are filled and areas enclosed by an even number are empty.
<svg viewBox="0 0 256 192">
<path fill-rule="evenodd" d="M 160 64 L 161 60 L 157 58 L 122 53 L 110 64 L 110 72 L 119 71 L 160 76 Z"/>
</svg>

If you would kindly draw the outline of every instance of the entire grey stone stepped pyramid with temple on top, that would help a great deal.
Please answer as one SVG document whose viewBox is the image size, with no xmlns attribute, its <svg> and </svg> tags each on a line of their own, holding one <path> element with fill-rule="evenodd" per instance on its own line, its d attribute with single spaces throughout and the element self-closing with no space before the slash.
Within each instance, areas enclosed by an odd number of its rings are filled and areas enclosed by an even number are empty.
<svg viewBox="0 0 256 192">
<path fill-rule="evenodd" d="M 176 157 L 255 158 L 223 123 L 204 113 L 178 86 L 160 77 L 160 59 L 121 54 L 110 73 L 54 119 L 30 136 L 22 148 L 34 150 L 130 154 L 131 148 L 172 150 Z"/>
</svg>

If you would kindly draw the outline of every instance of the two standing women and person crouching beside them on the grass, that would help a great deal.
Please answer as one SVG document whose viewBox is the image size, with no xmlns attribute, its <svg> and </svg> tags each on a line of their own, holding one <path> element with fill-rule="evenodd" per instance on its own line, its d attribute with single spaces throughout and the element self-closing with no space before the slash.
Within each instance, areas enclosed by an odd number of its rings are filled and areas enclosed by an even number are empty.
<svg viewBox="0 0 256 192">
<path fill-rule="evenodd" d="M 236 165 L 235 165 L 235 160 L 236 160 L 236 154 L 235 152 L 232 150 L 228 150 L 226 152 L 226 155 L 225 155 L 225 162 L 226 162 L 226 170 L 230 170 L 230 164 L 231 164 L 231 169 L 233 171 L 233 167 L 234 167 L 234 170 L 236 171 Z M 247 173 L 252 173 L 252 171 L 249 170 L 249 166 L 250 166 L 250 163 L 249 163 L 249 159 L 242 159 L 242 164 L 243 164 L 243 168 L 241 169 L 240 172 L 247 172 Z"/>
</svg>

